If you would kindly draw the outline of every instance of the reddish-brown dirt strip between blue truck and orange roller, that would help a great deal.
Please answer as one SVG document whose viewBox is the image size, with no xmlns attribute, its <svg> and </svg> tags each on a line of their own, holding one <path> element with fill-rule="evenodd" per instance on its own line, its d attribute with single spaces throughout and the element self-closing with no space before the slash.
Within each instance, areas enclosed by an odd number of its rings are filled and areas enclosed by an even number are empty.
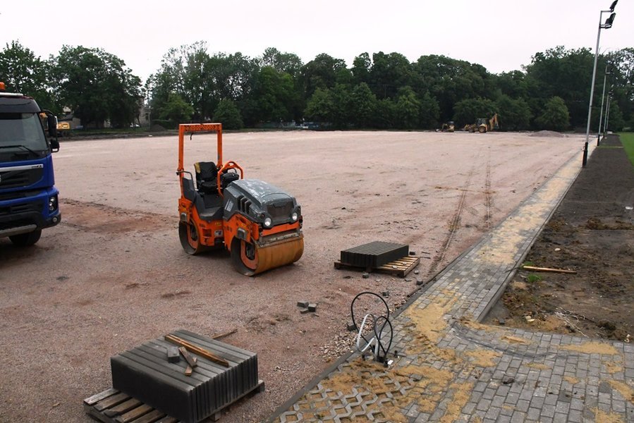
<svg viewBox="0 0 634 423">
<path fill-rule="evenodd" d="M 93 233 L 164 231 L 176 228 L 178 218 L 164 214 L 112 207 L 95 202 L 64 199 L 61 201 L 62 226 Z"/>
</svg>

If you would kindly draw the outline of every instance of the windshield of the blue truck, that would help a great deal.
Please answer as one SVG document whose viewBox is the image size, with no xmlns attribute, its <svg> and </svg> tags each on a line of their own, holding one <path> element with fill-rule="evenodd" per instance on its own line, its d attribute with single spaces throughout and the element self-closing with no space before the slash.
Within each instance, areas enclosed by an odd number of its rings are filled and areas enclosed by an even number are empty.
<svg viewBox="0 0 634 423">
<path fill-rule="evenodd" d="M 34 152 L 49 149 L 39 116 L 35 113 L 1 113 L 0 149 L 24 147 Z"/>
</svg>

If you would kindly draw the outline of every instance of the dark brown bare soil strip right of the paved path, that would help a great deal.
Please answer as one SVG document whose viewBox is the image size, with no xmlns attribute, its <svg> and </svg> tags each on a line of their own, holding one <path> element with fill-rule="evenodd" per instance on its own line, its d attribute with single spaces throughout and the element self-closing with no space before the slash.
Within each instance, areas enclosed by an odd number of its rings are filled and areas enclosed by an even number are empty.
<svg viewBox="0 0 634 423">
<path fill-rule="evenodd" d="M 616 135 L 602 142 L 526 260 L 575 274 L 520 270 L 487 321 L 630 342 L 634 336 L 634 167 Z"/>
</svg>

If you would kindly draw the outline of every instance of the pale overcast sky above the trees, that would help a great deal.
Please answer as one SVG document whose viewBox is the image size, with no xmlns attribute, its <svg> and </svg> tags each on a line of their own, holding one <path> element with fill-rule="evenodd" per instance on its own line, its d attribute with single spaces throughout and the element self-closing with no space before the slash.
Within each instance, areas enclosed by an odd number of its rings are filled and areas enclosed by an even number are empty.
<svg viewBox="0 0 634 423">
<path fill-rule="evenodd" d="M 215 52 L 261 56 L 267 47 L 304 63 L 396 51 L 415 61 L 444 54 L 492 73 L 520 69 L 537 51 L 597 42 L 611 0 L 435 1 L 3 1 L 0 48 L 18 40 L 43 59 L 64 44 L 100 47 L 145 80 L 170 47 L 206 41 Z M 633 0 L 620 0 L 599 51 L 634 47 Z M 609 13 L 604 13 L 603 19 Z"/>
</svg>

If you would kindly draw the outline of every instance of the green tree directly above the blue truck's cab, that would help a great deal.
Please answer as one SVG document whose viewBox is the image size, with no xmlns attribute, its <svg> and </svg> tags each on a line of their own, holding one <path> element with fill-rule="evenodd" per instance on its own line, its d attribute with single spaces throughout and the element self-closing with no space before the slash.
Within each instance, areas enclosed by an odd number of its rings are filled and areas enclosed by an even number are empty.
<svg viewBox="0 0 634 423">
<path fill-rule="evenodd" d="M 0 81 L 10 92 L 21 92 L 35 98 L 42 109 L 61 111 L 54 99 L 49 77 L 49 63 L 18 41 L 6 44 L 0 51 Z"/>
</svg>

